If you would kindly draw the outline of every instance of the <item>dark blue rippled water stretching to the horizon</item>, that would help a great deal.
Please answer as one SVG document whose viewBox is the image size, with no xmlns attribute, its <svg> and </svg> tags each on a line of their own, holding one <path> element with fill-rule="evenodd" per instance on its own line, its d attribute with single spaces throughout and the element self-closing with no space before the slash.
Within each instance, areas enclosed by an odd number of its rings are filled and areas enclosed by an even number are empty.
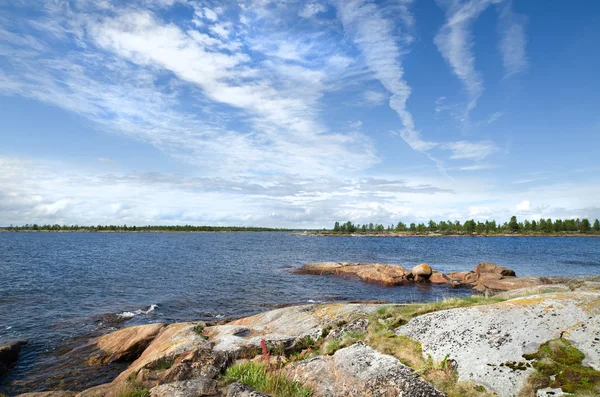
<svg viewBox="0 0 600 397">
<path fill-rule="evenodd" d="M 600 273 L 600 238 L 301 237 L 288 233 L 0 233 L 0 340 L 30 345 L 9 381 L 22 379 L 62 341 L 102 326 L 242 316 L 282 303 L 432 300 L 467 290 L 385 288 L 291 274 L 318 261 L 429 263 L 442 272 L 481 261 L 517 275 Z M 0 383 L 0 390 L 2 389 Z"/>
</svg>

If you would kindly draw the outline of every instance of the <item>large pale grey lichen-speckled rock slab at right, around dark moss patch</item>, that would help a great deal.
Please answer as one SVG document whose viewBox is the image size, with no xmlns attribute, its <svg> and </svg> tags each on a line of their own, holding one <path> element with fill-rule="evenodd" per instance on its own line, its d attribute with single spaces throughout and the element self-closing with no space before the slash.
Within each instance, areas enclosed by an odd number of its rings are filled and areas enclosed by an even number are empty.
<svg viewBox="0 0 600 397">
<path fill-rule="evenodd" d="M 418 340 L 436 361 L 456 360 L 460 380 L 516 396 L 533 370 L 500 364 L 524 362 L 523 354 L 561 335 L 585 354 L 584 365 L 600 370 L 600 293 L 559 292 L 439 311 L 410 320 L 396 334 Z"/>
</svg>

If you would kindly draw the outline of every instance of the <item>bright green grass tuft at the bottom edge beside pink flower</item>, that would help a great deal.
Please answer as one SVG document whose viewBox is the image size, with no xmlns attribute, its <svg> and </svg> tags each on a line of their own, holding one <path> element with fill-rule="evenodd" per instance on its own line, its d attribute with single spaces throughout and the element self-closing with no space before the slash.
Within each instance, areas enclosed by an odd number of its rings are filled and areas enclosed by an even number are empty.
<svg viewBox="0 0 600 397">
<path fill-rule="evenodd" d="M 224 380 L 227 383 L 244 383 L 273 397 L 309 397 L 313 394 L 312 389 L 281 374 L 270 372 L 266 365 L 255 362 L 232 365 L 227 368 Z"/>
</svg>

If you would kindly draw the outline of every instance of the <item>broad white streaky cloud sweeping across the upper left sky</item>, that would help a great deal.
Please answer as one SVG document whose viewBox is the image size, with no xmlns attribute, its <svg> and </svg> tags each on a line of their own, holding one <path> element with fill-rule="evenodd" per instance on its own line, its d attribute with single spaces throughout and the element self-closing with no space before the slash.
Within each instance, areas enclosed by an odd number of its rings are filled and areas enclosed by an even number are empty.
<svg viewBox="0 0 600 397">
<path fill-rule="evenodd" d="M 23 27 L 12 26 L 3 36 L 12 56 L 0 73 L 1 92 L 84 115 L 207 173 L 352 173 L 377 161 L 364 135 L 330 131 L 319 119 L 329 73 L 339 69 L 285 59 L 257 63 L 242 45 L 249 33 L 214 9 L 196 9 L 202 30 L 135 7 L 48 12 L 28 28 L 63 45 L 24 42 Z M 211 29 L 217 18 L 226 31 Z M 190 92 L 191 110 L 182 101 Z M 231 109 L 239 112 L 235 130 L 228 128 Z"/>
</svg>

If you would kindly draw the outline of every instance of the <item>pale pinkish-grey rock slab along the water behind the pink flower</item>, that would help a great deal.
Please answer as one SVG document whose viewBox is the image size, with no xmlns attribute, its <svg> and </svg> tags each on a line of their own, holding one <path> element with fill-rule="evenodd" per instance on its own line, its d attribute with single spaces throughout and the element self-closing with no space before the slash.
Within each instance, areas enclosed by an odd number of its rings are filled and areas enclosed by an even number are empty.
<svg viewBox="0 0 600 397">
<path fill-rule="evenodd" d="M 228 357 L 251 358 L 261 348 L 261 340 L 283 350 L 309 347 L 324 331 L 355 317 L 371 314 L 383 305 L 328 304 L 302 305 L 271 310 L 226 325 L 207 327 L 204 332 L 215 352 Z"/>
</svg>

